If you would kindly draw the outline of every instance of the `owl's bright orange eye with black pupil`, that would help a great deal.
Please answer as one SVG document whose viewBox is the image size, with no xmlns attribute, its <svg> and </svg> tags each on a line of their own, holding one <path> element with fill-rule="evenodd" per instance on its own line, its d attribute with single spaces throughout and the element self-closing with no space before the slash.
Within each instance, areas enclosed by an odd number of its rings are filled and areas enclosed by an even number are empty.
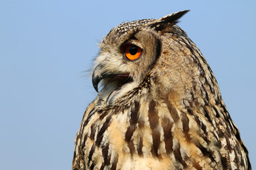
<svg viewBox="0 0 256 170">
<path fill-rule="evenodd" d="M 142 49 L 136 45 L 127 44 L 124 45 L 124 53 L 128 60 L 136 60 L 142 55 Z"/>
</svg>

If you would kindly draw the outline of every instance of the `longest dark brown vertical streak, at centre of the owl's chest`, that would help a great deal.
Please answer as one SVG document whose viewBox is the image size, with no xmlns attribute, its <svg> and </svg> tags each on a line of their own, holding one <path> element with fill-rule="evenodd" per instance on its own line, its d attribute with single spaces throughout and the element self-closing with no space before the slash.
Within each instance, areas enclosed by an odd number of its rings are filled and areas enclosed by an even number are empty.
<svg viewBox="0 0 256 170">
<path fill-rule="evenodd" d="M 152 131 L 153 145 L 151 148 L 151 153 L 158 157 L 157 151 L 160 145 L 160 132 L 156 130 L 157 125 L 159 125 L 159 115 L 156 108 L 156 101 L 151 100 L 149 102 L 149 125 Z"/>
</svg>

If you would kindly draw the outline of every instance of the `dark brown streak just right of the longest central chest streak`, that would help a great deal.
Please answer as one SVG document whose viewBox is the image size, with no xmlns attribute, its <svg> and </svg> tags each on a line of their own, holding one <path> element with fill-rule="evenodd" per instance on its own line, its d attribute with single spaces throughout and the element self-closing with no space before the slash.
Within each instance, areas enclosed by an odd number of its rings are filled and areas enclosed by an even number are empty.
<svg viewBox="0 0 256 170">
<path fill-rule="evenodd" d="M 164 130 L 164 143 L 166 146 L 166 153 L 170 154 L 173 147 L 173 136 L 171 135 L 171 128 L 173 127 L 174 123 L 166 117 L 162 118 L 161 122 Z"/>
</svg>

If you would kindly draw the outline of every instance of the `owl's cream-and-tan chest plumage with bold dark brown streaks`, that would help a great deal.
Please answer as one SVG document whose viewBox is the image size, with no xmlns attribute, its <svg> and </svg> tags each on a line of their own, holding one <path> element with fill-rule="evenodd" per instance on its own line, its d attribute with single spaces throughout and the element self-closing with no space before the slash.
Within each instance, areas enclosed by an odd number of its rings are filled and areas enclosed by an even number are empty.
<svg viewBox="0 0 256 170">
<path fill-rule="evenodd" d="M 150 102 L 146 107 L 135 103 L 118 113 L 102 111 L 87 117 L 82 149 L 88 167 L 210 169 L 212 160 L 197 145 L 201 137 L 196 134 L 202 130 L 192 117 L 175 112 L 174 108 L 158 107 Z"/>
</svg>

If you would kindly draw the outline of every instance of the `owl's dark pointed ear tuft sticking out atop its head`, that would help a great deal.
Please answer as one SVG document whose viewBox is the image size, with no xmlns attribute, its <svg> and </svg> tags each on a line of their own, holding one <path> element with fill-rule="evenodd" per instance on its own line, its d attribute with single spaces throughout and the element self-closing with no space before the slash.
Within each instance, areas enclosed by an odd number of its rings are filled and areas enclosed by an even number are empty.
<svg viewBox="0 0 256 170">
<path fill-rule="evenodd" d="M 164 16 L 152 23 L 149 23 L 149 27 L 155 28 L 156 30 L 163 30 L 166 26 L 174 25 L 178 23 L 178 19 L 181 18 L 189 10 L 179 11 L 176 13 L 171 13 L 168 16 Z"/>
</svg>

